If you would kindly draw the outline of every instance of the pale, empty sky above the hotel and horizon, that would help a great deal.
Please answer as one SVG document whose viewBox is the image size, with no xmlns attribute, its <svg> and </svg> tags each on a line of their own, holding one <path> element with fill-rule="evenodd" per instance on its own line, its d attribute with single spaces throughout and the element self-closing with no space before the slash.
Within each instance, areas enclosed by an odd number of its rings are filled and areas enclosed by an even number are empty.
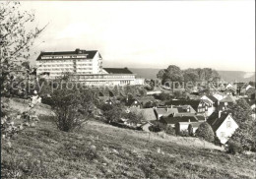
<svg viewBox="0 0 256 179">
<path fill-rule="evenodd" d="M 43 51 L 98 50 L 104 67 L 255 71 L 255 2 L 26 1 Z M 44 41 L 44 42 L 42 42 Z M 36 55 L 34 58 L 36 58 Z M 34 61 L 34 59 L 33 59 Z"/>
</svg>

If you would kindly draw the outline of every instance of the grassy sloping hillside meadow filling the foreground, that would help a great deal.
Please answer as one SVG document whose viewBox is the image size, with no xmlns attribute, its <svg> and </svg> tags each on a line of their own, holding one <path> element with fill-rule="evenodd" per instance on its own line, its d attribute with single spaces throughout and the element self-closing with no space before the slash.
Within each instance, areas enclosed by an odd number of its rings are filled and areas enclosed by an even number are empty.
<svg viewBox="0 0 256 179">
<path fill-rule="evenodd" d="M 196 138 L 149 135 L 95 120 L 65 133 L 51 120 L 40 115 L 11 148 L 2 145 L 2 178 L 255 178 L 255 154 L 230 155 Z"/>
</svg>

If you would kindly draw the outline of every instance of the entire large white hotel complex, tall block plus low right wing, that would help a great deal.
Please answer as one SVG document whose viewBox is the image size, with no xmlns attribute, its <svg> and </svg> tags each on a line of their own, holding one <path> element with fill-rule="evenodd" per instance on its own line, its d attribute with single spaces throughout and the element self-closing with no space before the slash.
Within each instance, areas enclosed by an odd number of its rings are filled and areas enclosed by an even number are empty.
<svg viewBox="0 0 256 179">
<path fill-rule="evenodd" d="M 102 68 L 102 58 L 96 50 L 41 52 L 36 66 L 36 73 L 49 74 L 48 79 L 68 72 L 75 81 L 88 86 L 144 85 L 144 79 L 136 79 L 136 74 L 127 68 Z"/>
</svg>

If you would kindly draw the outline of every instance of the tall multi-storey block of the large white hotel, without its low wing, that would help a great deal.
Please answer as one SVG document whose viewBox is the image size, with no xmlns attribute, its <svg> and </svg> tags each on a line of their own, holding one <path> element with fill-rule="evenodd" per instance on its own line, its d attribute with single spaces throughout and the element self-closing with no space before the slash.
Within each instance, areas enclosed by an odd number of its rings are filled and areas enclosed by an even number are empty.
<svg viewBox="0 0 256 179">
<path fill-rule="evenodd" d="M 48 72 L 55 79 L 65 72 L 77 75 L 102 73 L 102 58 L 98 51 L 41 52 L 36 59 L 37 73 Z"/>
</svg>

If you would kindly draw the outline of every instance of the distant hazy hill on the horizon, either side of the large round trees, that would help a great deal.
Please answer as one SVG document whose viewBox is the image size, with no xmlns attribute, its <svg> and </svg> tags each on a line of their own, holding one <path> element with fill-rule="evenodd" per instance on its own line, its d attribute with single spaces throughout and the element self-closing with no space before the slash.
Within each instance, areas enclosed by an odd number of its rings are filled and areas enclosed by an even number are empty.
<svg viewBox="0 0 256 179">
<path fill-rule="evenodd" d="M 129 68 L 133 73 L 137 74 L 138 77 L 145 79 L 155 79 L 160 69 L 149 69 L 149 68 Z M 218 71 L 221 77 L 226 82 L 250 82 L 255 81 L 254 72 L 242 72 L 242 71 Z"/>
</svg>

